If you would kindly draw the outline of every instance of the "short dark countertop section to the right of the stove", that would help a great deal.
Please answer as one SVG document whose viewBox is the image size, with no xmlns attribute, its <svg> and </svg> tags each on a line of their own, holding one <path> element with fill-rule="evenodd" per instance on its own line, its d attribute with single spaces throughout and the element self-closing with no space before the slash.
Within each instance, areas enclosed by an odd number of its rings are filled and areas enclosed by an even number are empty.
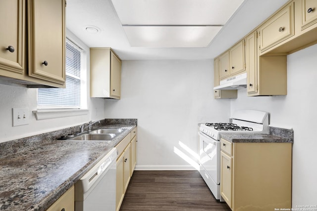
<svg viewBox="0 0 317 211">
<path fill-rule="evenodd" d="M 272 134 L 230 133 L 221 134 L 221 138 L 232 143 L 293 143 L 291 138 Z"/>
</svg>

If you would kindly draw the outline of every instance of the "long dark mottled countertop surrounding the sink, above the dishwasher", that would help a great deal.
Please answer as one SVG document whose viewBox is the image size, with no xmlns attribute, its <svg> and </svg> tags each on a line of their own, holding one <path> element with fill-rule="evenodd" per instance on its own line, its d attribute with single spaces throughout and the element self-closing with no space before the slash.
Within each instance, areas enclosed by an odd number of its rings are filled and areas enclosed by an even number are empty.
<svg viewBox="0 0 317 211">
<path fill-rule="evenodd" d="M 0 157 L 0 210 L 47 210 L 136 125 L 102 127 L 127 126 L 132 127 L 111 142 L 43 140 Z"/>
</svg>

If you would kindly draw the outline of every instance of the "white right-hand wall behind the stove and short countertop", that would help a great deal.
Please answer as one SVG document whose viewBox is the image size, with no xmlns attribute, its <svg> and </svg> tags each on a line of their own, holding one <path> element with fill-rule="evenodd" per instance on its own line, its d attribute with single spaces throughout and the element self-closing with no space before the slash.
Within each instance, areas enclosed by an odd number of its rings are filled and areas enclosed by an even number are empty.
<svg viewBox="0 0 317 211">
<path fill-rule="evenodd" d="M 238 92 L 231 112 L 250 108 L 270 113 L 270 124 L 294 129 L 292 206 L 316 205 L 317 45 L 287 56 L 287 95 L 247 97 Z M 276 172 L 283 173 L 283 172 Z"/>
</svg>

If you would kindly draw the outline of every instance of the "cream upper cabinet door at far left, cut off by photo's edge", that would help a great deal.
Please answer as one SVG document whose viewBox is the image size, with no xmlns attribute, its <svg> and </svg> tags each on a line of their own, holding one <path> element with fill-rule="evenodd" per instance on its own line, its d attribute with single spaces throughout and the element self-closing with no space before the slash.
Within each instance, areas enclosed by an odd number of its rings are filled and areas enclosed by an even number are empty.
<svg viewBox="0 0 317 211">
<path fill-rule="evenodd" d="M 24 73 L 24 2 L 24 0 L 0 0 L 0 75 L 2 76 L 10 77 L 13 72 Z"/>
</svg>

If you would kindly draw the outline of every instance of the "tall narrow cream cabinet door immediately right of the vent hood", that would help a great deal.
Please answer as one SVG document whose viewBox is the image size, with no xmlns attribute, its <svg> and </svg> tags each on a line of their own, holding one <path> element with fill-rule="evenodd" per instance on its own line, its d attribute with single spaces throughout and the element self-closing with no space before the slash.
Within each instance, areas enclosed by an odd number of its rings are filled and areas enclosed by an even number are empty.
<svg viewBox="0 0 317 211">
<path fill-rule="evenodd" d="M 246 70 L 247 70 L 247 92 L 257 93 L 257 32 L 246 38 Z"/>
</svg>

